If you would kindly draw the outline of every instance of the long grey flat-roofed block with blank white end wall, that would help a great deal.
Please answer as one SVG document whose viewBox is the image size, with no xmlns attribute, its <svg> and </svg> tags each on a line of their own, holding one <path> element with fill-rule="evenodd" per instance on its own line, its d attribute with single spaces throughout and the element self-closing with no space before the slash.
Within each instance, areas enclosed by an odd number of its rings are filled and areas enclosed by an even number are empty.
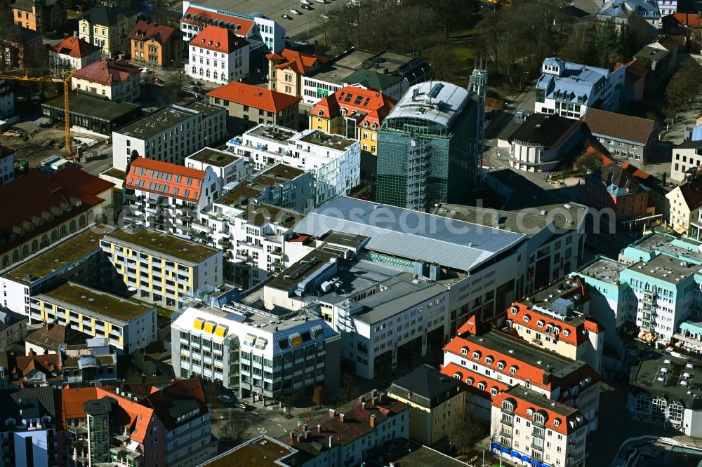
<svg viewBox="0 0 702 467">
<path fill-rule="evenodd" d="M 183 165 L 185 158 L 224 139 L 227 113 L 192 102 L 170 105 L 112 132 L 112 165 L 126 170 L 133 156 Z"/>
</svg>

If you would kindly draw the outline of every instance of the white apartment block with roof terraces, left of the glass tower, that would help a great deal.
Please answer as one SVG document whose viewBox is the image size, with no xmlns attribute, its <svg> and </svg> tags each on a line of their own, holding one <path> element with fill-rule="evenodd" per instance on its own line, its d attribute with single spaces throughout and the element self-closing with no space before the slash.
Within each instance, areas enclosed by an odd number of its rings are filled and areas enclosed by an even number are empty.
<svg viewBox="0 0 702 467">
<path fill-rule="evenodd" d="M 314 206 L 349 194 L 361 182 L 360 144 L 340 135 L 258 125 L 227 145 L 249 158 L 253 170 L 284 163 L 312 172 Z"/>
</svg>

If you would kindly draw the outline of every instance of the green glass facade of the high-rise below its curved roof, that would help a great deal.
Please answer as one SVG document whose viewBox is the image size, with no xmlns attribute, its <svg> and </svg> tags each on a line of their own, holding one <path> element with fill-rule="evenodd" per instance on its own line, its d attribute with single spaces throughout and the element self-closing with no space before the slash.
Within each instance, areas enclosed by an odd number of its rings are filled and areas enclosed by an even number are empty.
<svg viewBox="0 0 702 467">
<path fill-rule="evenodd" d="M 448 126 L 391 112 L 378 135 L 376 201 L 416 210 L 465 203 L 477 176 L 476 122 L 473 100 Z"/>
</svg>

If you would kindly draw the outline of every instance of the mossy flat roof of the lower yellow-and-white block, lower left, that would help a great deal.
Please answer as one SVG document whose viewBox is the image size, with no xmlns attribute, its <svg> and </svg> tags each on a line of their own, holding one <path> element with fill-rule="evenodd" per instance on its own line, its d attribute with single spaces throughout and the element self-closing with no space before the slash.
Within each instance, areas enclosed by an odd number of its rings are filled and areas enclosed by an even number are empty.
<svg viewBox="0 0 702 467">
<path fill-rule="evenodd" d="M 155 308 L 75 283 L 59 285 L 55 289 L 39 295 L 39 297 L 42 296 L 121 321 L 133 320 Z"/>
</svg>

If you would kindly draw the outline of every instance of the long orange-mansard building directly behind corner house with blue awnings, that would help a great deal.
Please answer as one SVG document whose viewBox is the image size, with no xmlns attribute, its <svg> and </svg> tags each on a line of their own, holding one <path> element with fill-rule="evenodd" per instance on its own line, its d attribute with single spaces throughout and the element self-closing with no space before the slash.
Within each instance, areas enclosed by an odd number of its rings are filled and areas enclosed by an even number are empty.
<svg viewBox="0 0 702 467">
<path fill-rule="evenodd" d="M 531 316 L 522 318 L 524 323 L 529 320 Z M 483 407 L 504 391 L 504 386 L 519 385 L 578 408 L 588 417 L 590 431 L 597 429 L 600 375 L 595 369 L 507 331 L 480 323 L 475 316 L 469 318 L 458 329 L 458 335 L 444 346 L 444 374 L 469 386 L 477 385 L 485 400 Z M 446 370 L 449 367 L 453 374 Z"/>
</svg>

